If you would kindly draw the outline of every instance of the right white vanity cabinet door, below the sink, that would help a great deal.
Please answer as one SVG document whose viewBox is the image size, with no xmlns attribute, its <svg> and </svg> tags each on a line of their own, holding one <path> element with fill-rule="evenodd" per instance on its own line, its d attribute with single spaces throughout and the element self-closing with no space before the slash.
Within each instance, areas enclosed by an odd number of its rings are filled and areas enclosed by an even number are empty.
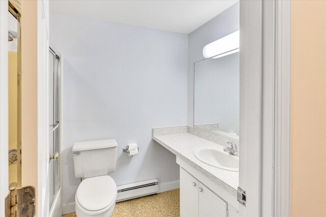
<svg viewBox="0 0 326 217">
<path fill-rule="evenodd" d="M 181 190 L 181 188 L 180 188 Z M 227 202 L 199 182 L 199 217 L 227 216 Z"/>
</svg>

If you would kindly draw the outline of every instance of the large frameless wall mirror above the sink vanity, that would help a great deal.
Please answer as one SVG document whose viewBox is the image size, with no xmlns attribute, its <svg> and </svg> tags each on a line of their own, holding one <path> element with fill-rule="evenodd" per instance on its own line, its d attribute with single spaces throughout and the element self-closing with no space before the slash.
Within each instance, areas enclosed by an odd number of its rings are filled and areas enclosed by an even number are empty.
<svg viewBox="0 0 326 217">
<path fill-rule="evenodd" d="M 194 127 L 239 139 L 239 52 L 195 63 Z"/>
</svg>

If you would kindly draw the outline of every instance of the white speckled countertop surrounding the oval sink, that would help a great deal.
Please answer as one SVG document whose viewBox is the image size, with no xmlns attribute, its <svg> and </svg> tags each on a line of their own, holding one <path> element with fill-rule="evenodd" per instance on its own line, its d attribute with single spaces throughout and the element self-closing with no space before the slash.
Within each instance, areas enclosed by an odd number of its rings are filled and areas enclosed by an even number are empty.
<svg viewBox="0 0 326 217">
<path fill-rule="evenodd" d="M 220 185 L 224 185 L 228 191 L 236 192 L 239 185 L 239 173 L 212 167 L 194 156 L 194 150 L 198 147 L 214 147 L 216 143 L 200 138 L 189 133 L 177 133 L 169 135 L 153 135 L 153 139 L 176 154 L 187 164 L 199 170 L 208 178 Z"/>
</svg>

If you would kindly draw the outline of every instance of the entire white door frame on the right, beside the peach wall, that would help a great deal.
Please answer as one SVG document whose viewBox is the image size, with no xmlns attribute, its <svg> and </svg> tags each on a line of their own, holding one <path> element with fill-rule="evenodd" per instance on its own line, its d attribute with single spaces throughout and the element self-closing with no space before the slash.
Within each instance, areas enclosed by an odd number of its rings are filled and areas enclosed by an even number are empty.
<svg viewBox="0 0 326 217">
<path fill-rule="evenodd" d="M 289 216 L 290 1 L 240 1 L 240 216 Z"/>
</svg>

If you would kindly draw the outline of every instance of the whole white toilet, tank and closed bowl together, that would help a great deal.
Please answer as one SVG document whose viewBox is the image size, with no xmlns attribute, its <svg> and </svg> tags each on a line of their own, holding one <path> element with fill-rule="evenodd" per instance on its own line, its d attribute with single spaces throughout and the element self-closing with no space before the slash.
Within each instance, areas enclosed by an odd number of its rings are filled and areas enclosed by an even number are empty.
<svg viewBox="0 0 326 217">
<path fill-rule="evenodd" d="M 78 217 L 112 214 L 117 185 L 107 174 L 116 169 L 117 146 L 115 139 L 76 142 L 72 146 L 75 177 L 83 178 L 75 195 Z"/>
</svg>

